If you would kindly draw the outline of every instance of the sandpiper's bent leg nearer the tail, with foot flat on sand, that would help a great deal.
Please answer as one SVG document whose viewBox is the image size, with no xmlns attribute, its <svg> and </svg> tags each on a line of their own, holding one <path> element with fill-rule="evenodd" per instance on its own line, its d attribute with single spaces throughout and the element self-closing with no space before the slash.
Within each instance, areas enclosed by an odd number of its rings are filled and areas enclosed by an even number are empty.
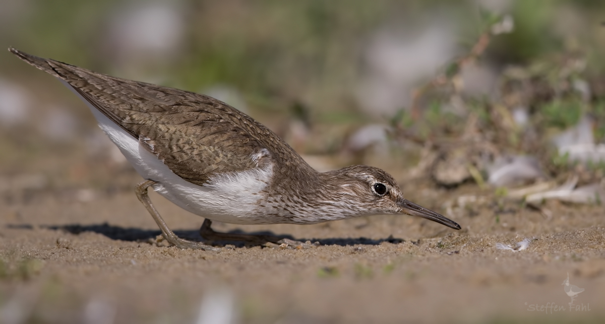
<svg viewBox="0 0 605 324">
<path fill-rule="evenodd" d="M 153 184 L 156 184 L 156 183 L 157 182 L 155 182 L 153 180 L 145 180 L 142 183 L 137 184 L 134 191 L 137 193 L 137 197 L 139 198 L 139 200 L 143 203 L 145 208 L 151 214 L 151 217 L 153 217 L 155 223 L 160 227 L 160 230 L 162 230 L 162 236 L 164 236 L 166 241 L 168 241 L 172 245 L 175 245 L 178 248 L 183 248 L 183 249 L 184 248 L 194 248 L 194 249 L 206 250 L 206 251 L 220 250 L 220 248 L 212 247 L 210 245 L 206 245 L 201 242 L 194 242 L 194 241 L 188 241 L 186 239 L 181 239 L 177 235 L 175 235 L 174 232 L 172 232 L 172 230 L 170 230 L 170 228 L 168 228 L 168 225 L 166 225 L 166 222 L 164 221 L 164 219 L 162 219 L 162 216 L 160 216 L 160 213 L 158 213 L 157 210 L 155 209 L 155 207 L 151 204 L 151 199 L 149 199 L 149 195 L 147 193 L 147 189 L 149 188 L 149 186 L 152 186 Z"/>
</svg>

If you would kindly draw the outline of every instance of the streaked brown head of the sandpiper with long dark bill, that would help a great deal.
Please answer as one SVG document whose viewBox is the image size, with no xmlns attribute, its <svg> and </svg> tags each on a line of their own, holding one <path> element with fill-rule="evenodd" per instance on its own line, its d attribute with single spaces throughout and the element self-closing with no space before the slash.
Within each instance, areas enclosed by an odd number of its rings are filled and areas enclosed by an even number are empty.
<svg viewBox="0 0 605 324">
<path fill-rule="evenodd" d="M 405 199 L 393 177 L 377 167 L 350 166 L 324 175 L 329 178 L 329 190 L 336 194 L 331 196 L 358 216 L 408 214 L 460 229 L 451 219 Z"/>
</svg>

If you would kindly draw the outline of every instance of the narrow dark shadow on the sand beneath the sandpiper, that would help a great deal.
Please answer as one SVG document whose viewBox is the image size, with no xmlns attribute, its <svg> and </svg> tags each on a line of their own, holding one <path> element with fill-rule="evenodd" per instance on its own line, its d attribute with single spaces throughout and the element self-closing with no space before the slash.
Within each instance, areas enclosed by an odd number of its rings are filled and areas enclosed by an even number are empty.
<svg viewBox="0 0 605 324">
<path fill-rule="evenodd" d="M 8 228 L 21 228 L 21 229 L 33 229 L 32 225 L 20 224 L 20 225 L 12 225 L 8 224 Z M 61 230 L 67 233 L 71 233 L 74 235 L 79 235 L 83 232 L 91 232 L 97 233 L 106 236 L 107 238 L 119 240 L 119 241 L 129 241 L 129 242 L 152 242 L 154 239 L 160 235 L 162 232 L 159 230 L 143 230 L 141 228 L 135 227 L 120 227 L 115 225 L 110 225 L 105 223 L 102 224 L 92 224 L 92 225 L 80 225 L 80 224 L 67 224 L 67 225 L 42 225 L 41 228 L 48 228 L 50 230 Z M 189 239 L 191 241 L 204 241 L 201 238 L 198 230 L 175 230 L 174 233 L 180 238 Z M 275 235 L 273 232 L 251 232 L 245 233 L 241 230 L 232 230 L 228 233 L 231 234 L 250 234 L 250 235 L 270 235 L 276 236 L 278 238 L 287 238 L 295 241 L 311 241 L 313 243 L 319 242 L 319 245 L 340 245 L 340 246 L 348 246 L 348 245 L 379 245 L 382 242 L 390 242 L 393 244 L 398 244 L 404 242 L 404 239 L 393 238 L 393 236 L 389 236 L 384 239 L 370 239 L 370 238 L 323 238 L 323 239 L 306 239 L 306 238 L 293 238 L 290 235 Z M 235 245 L 236 247 L 243 246 L 262 246 L 264 244 L 260 243 L 249 243 L 249 242 L 241 242 L 241 241 L 213 241 L 212 245 L 215 246 L 225 246 L 227 244 Z"/>
</svg>

